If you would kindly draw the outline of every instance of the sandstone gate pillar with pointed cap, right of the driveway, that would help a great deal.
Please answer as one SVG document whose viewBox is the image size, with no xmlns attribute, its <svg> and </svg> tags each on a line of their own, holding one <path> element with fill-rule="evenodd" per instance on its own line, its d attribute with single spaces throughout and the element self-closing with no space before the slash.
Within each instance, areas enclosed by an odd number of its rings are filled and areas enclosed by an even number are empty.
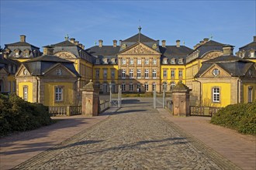
<svg viewBox="0 0 256 170">
<path fill-rule="evenodd" d="M 178 117 L 189 116 L 189 92 L 184 83 L 178 82 L 172 90 L 173 114 Z"/>
</svg>

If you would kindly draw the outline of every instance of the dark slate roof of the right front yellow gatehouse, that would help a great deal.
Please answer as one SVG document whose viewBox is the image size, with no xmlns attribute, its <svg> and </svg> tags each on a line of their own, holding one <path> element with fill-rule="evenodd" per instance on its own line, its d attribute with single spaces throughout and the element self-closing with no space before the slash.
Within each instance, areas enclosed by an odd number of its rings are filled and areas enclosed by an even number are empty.
<svg viewBox="0 0 256 170">
<path fill-rule="evenodd" d="M 219 56 L 202 62 L 202 66 L 195 77 L 202 75 L 202 73 L 208 70 L 210 66 L 213 66 L 213 64 L 220 66 L 223 70 L 226 70 L 227 73 L 230 73 L 231 76 L 244 76 L 247 70 L 254 65 L 254 62 L 233 55 Z"/>
</svg>

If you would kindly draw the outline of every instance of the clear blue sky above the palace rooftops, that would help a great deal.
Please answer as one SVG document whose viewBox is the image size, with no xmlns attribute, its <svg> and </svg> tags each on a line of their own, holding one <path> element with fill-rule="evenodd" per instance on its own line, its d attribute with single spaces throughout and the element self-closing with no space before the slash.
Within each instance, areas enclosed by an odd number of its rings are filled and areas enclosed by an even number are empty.
<svg viewBox="0 0 256 170">
<path fill-rule="evenodd" d="M 67 34 L 85 45 L 112 45 L 141 32 L 193 48 L 205 37 L 238 47 L 256 36 L 255 1 L 12 1 L 1 0 L 0 44 L 19 35 L 40 47 L 64 41 Z"/>
</svg>

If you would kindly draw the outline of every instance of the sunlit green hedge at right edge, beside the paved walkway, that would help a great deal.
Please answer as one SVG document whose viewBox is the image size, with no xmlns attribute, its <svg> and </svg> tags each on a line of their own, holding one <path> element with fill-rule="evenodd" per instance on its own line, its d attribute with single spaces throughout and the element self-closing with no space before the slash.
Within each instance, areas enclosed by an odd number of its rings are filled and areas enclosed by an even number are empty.
<svg viewBox="0 0 256 170">
<path fill-rule="evenodd" d="M 251 104 L 231 104 L 215 114 L 211 123 L 232 128 L 243 134 L 256 134 L 256 101 Z"/>
</svg>

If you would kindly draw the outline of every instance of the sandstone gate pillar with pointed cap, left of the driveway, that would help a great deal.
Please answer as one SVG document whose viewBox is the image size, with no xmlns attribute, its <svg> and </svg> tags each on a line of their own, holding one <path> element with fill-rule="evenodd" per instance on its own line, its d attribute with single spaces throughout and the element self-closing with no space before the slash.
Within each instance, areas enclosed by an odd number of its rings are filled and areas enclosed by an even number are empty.
<svg viewBox="0 0 256 170">
<path fill-rule="evenodd" d="M 96 87 L 92 80 L 82 90 L 81 114 L 88 117 L 99 114 L 99 87 Z"/>
</svg>

